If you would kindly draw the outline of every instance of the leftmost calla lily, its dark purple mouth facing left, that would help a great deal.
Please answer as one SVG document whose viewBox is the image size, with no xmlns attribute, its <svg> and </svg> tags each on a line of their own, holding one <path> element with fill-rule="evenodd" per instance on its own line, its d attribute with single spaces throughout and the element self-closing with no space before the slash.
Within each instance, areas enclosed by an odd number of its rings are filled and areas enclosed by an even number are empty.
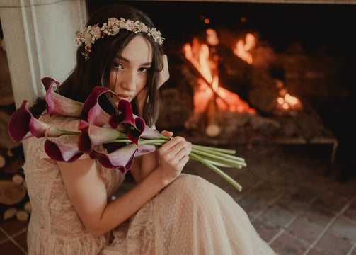
<svg viewBox="0 0 356 255">
<path fill-rule="evenodd" d="M 8 134 L 16 142 L 21 142 L 28 137 L 59 137 L 61 135 L 78 135 L 78 132 L 59 130 L 52 125 L 43 123 L 33 117 L 28 109 L 27 101 L 24 100 L 21 107 L 18 108 L 10 118 L 8 123 Z"/>
</svg>

